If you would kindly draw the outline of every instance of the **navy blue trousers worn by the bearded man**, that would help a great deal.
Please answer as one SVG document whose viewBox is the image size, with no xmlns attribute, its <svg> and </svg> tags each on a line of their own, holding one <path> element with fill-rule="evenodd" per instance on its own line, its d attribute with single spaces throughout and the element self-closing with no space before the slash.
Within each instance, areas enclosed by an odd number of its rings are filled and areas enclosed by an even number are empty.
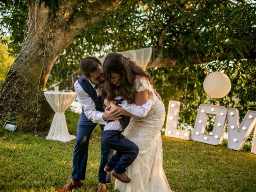
<svg viewBox="0 0 256 192">
<path fill-rule="evenodd" d="M 78 121 L 78 129 L 76 134 L 76 145 L 73 154 L 73 170 L 72 179 L 84 180 L 86 173 L 86 165 L 88 159 L 88 146 L 89 139 L 92 131 L 96 127 L 97 123 L 92 122 L 84 115 L 84 110 L 80 115 Z M 101 129 L 104 125 L 100 125 Z M 108 162 L 108 159 L 113 155 L 113 150 L 108 148 L 106 145 L 101 144 L 101 159 L 99 168 L 99 182 L 110 183 L 110 174 L 104 171 L 104 167 Z"/>
</svg>

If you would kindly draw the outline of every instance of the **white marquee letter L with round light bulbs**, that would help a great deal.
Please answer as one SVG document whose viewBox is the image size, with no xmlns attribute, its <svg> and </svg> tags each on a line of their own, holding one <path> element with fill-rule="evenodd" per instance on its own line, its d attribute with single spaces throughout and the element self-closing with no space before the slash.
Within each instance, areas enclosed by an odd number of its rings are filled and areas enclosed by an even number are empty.
<svg viewBox="0 0 256 192">
<path fill-rule="evenodd" d="M 179 112 L 180 112 L 180 102 L 169 101 L 165 135 L 168 137 L 175 137 L 175 138 L 190 140 L 191 131 L 177 129 Z"/>
</svg>

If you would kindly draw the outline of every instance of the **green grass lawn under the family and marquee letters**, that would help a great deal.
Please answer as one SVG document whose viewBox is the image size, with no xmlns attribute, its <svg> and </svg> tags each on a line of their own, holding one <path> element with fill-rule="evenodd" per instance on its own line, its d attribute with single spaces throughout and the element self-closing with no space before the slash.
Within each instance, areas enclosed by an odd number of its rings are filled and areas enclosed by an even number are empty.
<svg viewBox="0 0 256 192">
<path fill-rule="evenodd" d="M 78 118 L 79 114 L 66 112 L 70 134 L 76 134 Z M 46 135 L 0 130 L 0 191 L 55 191 L 70 179 L 74 140 L 49 141 Z M 164 170 L 175 192 L 256 191 L 256 155 L 250 153 L 250 148 L 234 151 L 226 143 L 213 146 L 166 136 L 162 141 Z M 99 162 L 97 126 L 90 139 L 86 180 L 75 191 L 96 191 Z M 118 192 L 114 179 L 108 191 Z"/>
</svg>

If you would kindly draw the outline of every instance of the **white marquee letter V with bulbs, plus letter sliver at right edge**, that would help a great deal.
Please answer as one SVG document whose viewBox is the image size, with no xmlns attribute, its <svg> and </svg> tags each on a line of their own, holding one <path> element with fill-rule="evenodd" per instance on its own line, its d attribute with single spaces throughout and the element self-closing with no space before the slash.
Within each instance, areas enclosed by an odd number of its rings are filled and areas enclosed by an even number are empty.
<svg viewBox="0 0 256 192">
<path fill-rule="evenodd" d="M 228 108 L 228 148 L 241 150 L 256 125 L 256 111 L 248 110 L 239 126 L 239 112 L 236 108 Z M 256 131 L 252 141 L 251 152 L 256 154 Z"/>
</svg>

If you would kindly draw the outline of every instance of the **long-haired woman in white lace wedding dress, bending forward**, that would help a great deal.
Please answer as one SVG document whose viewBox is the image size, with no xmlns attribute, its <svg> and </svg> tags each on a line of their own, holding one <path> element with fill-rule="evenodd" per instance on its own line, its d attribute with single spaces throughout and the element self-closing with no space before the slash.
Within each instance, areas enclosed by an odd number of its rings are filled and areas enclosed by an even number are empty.
<svg viewBox="0 0 256 192">
<path fill-rule="evenodd" d="M 154 92 L 151 77 L 122 54 L 110 53 L 103 64 L 105 88 L 108 100 L 116 92 L 129 103 L 142 105 L 148 93 Z M 151 110 L 144 118 L 132 116 L 124 130 L 124 136 L 139 147 L 139 154 L 126 169 L 130 183 L 115 182 L 121 192 L 171 192 L 163 170 L 162 139 L 160 130 L 164 124 L 164 104 L 154 94 Z M 117 106 L 112 106 L 117 107 Z M 122 109 L 121 109 L 122 110 Z M 124 115 L 127 112 L 122 110 Z"/>
</svg>

